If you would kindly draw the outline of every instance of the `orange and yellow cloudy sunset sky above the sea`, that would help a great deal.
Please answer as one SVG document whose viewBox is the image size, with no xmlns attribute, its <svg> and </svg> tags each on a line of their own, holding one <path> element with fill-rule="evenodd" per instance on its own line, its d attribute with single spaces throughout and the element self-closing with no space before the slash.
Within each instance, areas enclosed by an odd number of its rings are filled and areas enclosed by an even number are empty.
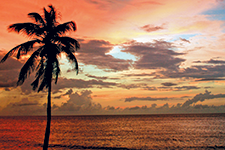
<svg viewBox="0 0 225 150">
<path fill-rule="evenodd" d="M 79 74 L 62 55 L 53 114 L 225 112 L 223 0 L 1 0 L 0 58 L 29 38 L 13 23 L 52 4 L 81 48 Z M 0 115 L 46 114 L 33 76 L 16 87 L 24 60 L 0 64 Z"/>
</svg>

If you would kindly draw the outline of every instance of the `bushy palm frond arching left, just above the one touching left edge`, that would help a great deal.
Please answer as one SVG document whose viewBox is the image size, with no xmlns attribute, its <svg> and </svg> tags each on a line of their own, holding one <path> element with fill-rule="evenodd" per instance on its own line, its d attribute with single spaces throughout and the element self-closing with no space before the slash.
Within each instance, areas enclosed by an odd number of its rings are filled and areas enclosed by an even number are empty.
<svg viewBox="0 0 225 150">
<path fill-rule="evenodd" d="M 40 33 L 40 26 L 34 23 L 15 23 L 8 27 L 9 31 L 15 31 L 17 33 L 23 33 L 28 36 L 36 35 L 39 36 Z"/>
</svg>

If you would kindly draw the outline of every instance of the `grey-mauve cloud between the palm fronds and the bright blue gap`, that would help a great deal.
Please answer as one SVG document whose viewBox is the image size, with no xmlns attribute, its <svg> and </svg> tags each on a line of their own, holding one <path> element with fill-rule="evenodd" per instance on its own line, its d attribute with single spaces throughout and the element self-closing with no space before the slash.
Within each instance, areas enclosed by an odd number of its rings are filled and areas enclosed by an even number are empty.
<svg viewBox="0 0 225 150">
<path fill-rule="evenodd" d="M 132 60 L 114 58 L 107 55 L 113 49 L 113 45 L 103 40 L 90 40 L 80 42 L 78 60 L 85 65 L 94 65 L 105 71 L 128 70 Z"/>
</svg>

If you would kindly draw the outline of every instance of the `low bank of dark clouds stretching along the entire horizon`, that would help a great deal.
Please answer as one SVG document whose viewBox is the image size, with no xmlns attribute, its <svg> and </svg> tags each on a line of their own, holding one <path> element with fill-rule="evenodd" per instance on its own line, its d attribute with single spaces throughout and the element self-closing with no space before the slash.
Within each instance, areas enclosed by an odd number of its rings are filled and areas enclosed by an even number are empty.
<svg viewBox="0 0 225 150">
<path fill-rule="evenodd" d="M 102 107 L 101 104 L 95 103 L 92 100 L 92 91 L 83 90 L 81 92 L 67 92 L 69 100 L 61 105 L 52 104 L 53 115 L 99 115 L 99 114 L 175 114 L 175 113 L 225 113 L 225 105 L 210 106 L 210 105 L 195 105 L 197 102 L 203 102 L 207 99 L 224 98 L 225 94 L 211 94 L 205 91 L 204 94 L 197 94 L 192 99 L 187 100 L 183 104 L 177 103 L 176 105 L 169 106 L 165 103 L 158 106 L 153 103 L 150 107 L 134 106 L 134 107 Z M 181 97 L 188 98 L 188 96 Z M 169 100 L 169 98 L 130 98 L 129 100 Z M 171 99 L 171 98 L 170 98 Z M 37 101 L 31 101 L 27 98 L 19 102 L 9 103 L 6 107 L 0 110 L 0 115 L 46 115 L 46 103 L 43 105 Z"/>
</svg>

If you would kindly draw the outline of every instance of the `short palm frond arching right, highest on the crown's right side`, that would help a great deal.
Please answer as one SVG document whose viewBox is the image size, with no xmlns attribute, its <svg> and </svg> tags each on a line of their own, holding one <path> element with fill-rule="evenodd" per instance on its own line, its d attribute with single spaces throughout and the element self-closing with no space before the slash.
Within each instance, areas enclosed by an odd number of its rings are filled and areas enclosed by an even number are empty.
<svg viewBox="0 0 225 150">
<path fill-rule="evenodd" d="M 65 34 L 68 31 L 76 31 L 76 24 L 73 21 L 69 21 L 58 25 L 55 30 L 55 32 L 60 35 Z"/>
</svg>

